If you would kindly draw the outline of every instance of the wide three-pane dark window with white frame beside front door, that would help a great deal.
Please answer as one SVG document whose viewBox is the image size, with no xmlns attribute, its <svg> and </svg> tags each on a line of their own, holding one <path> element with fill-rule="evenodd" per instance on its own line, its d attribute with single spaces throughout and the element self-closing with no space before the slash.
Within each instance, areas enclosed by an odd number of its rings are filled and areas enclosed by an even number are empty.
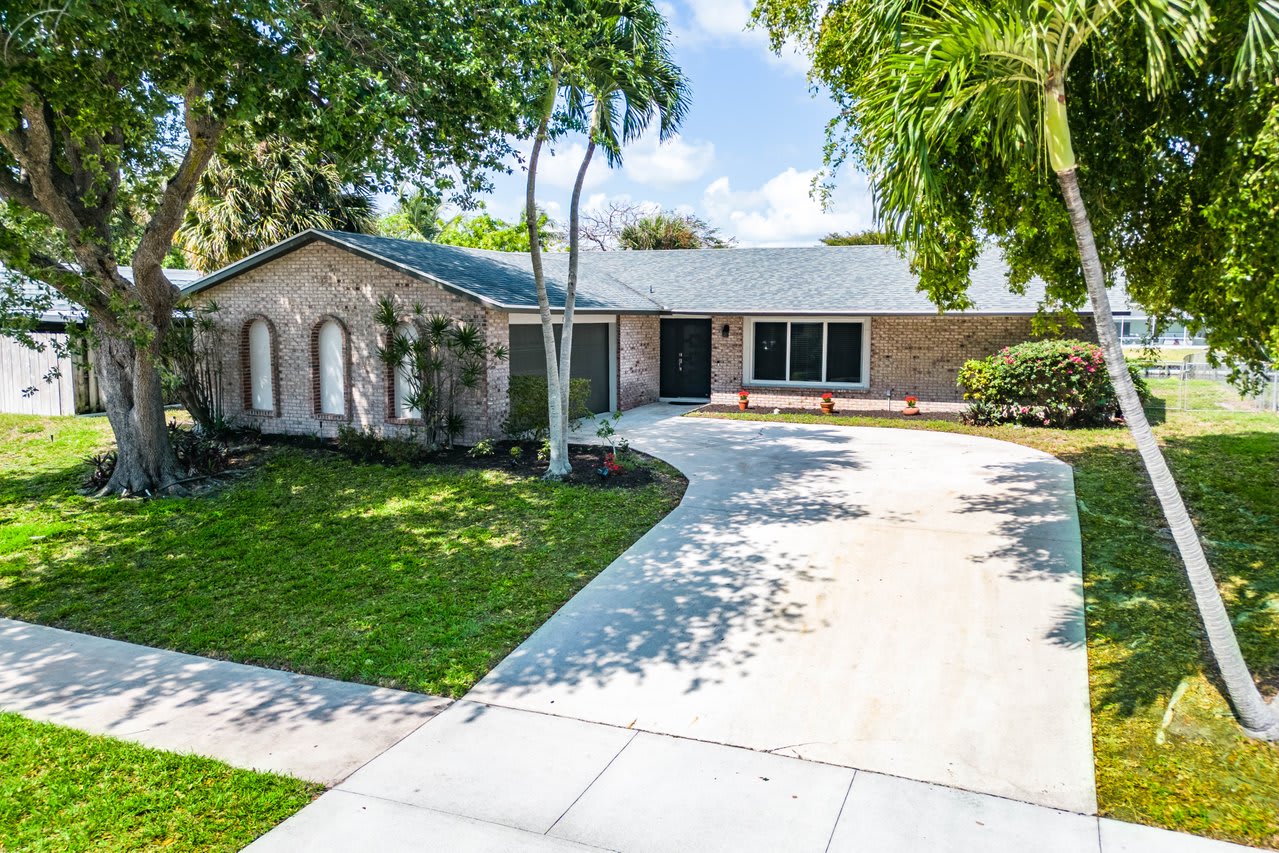
<svg viewBox="0 0 1279 853">
<path fill-rule="evenodd" d="M 761 317 L 747 324 L 746 381 L 758 385 L 866 387 L 870 322 Z"/>
</svg>

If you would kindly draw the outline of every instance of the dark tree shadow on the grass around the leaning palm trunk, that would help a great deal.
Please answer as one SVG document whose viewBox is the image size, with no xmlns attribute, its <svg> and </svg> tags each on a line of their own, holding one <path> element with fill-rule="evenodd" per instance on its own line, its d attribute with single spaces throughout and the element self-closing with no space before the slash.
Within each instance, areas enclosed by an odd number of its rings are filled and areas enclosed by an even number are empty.
<svg viewBox="0 0 1279 853">
<path fill-rule="evenodd" d="M 1165 436 L 1165 453 L 1262 680 L 1279 673 L 1279 432 Z M 1078 453 L 1096 703 L 1133 715 L 1186 677 L 1216 678 L 1184 568 L 1134 450 Z"/>
</svg>

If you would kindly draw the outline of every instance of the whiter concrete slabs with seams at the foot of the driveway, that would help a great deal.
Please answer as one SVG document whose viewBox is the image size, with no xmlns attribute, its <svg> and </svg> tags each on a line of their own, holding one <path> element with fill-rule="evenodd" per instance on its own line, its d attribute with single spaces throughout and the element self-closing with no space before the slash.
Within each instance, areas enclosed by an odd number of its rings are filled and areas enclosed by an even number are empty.
<svg viewBox="0 0 1279 853">
<path fill-rule="evenodd" d="M 460 701 L 248 850 L 1212 853 L 1233 844 Z"/>
</svg>

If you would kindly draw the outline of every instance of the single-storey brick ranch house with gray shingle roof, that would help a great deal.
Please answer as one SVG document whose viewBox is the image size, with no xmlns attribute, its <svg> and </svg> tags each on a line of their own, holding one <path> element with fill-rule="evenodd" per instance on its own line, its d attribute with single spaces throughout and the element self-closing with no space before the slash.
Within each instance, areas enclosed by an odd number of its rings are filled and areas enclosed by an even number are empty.
<svg viewBox="0 0 1279 853">
<path fill-rule="evenodd" d="M 563 306 L 568 257 L 544 254 L 551 304 Z M 463 442 L 499 436 L 509 377 L 544 373 L 527 254 L 365 234 L 308 230 L 188 285 L 220 306 L 231 341 L 223 363 L 226 412 L 263 432 L 334 435 L 338 425 L 407 428 L 394 371 L 377 358 L 382 297 L 477 326 L 508 348 L 489 359 L 463 407 Z M 843 409 L 917 395 L 957 409 L 968 358 L 1032 338 L 1042 285 L 1012 294 L 984 258 L 976 308 L 939 315 L 894 249 L 877 246 L 583 252 L 573 375 L 591 408 L 656 400 Z M 1091 315 L 1083 338 L 1095 339 Z M 408 318 L 405 317 L 405 322 Z"/>
</svg>

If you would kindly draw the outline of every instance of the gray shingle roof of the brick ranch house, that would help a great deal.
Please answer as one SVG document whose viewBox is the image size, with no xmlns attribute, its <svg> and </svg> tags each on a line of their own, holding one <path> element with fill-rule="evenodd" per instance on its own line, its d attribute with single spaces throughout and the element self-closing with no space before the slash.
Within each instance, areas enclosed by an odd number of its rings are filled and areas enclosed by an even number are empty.
<svg viewBox="0 0 1279 853">
<path fill-rule="evenodd" d="M 508 311 L 537 308 L 527 253 L 344 231 L 304 231 L 201 279 L 188 292 L 317 239 L 478 302 Z M 547 252 L 542 261 L 551 304 L 563 306 L 568 254 Z M 583 252 L 577 307 L 620 313 L 935 315 L 936 306 L 916 284 L 906 260 L 885 246 Z M 1044 283 L 1031 281 L 1024 294 L 1009 293 L 1005 267 L 989 252 L 973 271 L 969 295 L 976 307 L 966 313 L 1031 315 L 1042 301 Z"/>
</svg>

